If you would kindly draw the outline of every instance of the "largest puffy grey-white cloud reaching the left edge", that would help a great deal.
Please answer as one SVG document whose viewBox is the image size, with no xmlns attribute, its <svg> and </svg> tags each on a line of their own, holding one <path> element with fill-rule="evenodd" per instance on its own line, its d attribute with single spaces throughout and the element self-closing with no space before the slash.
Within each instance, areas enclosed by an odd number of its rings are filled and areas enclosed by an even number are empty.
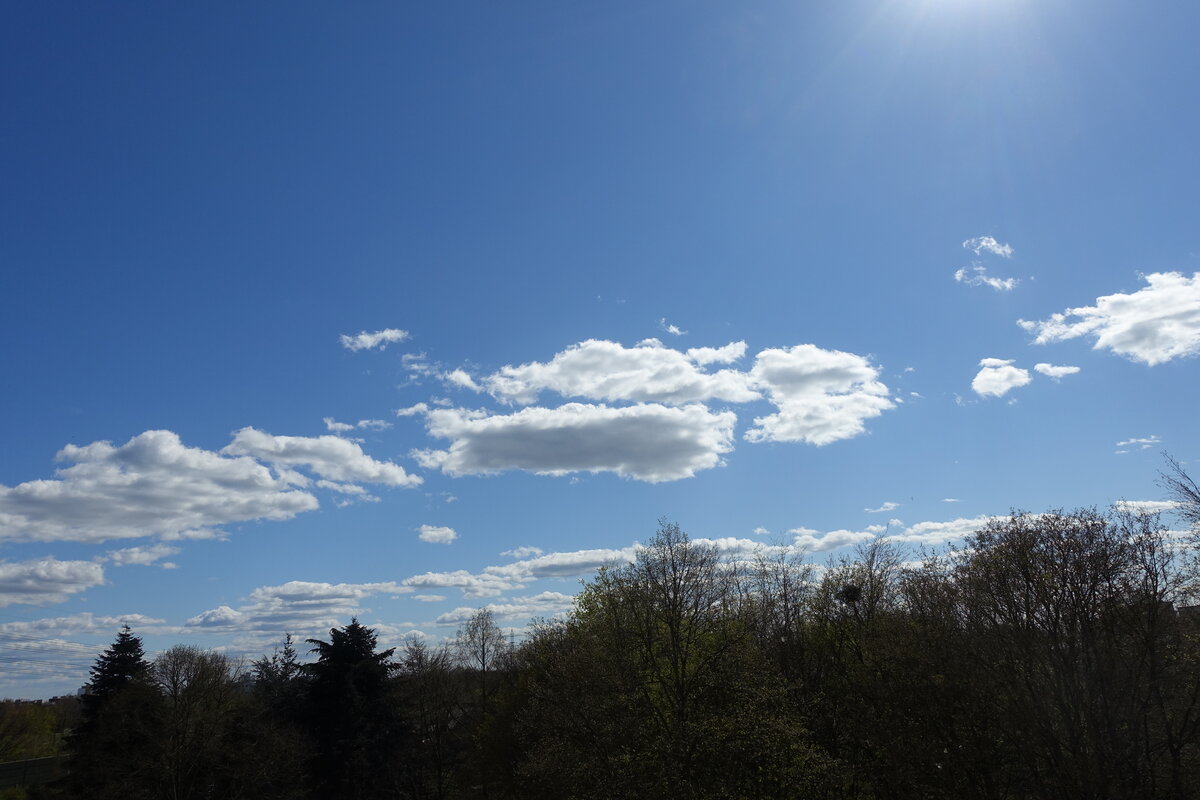
<svg viewBox="0 0 1200 800">
<path fill-rule="evenodd" d="M 204 537 L 217 525 L 290 519 L 317 507 L 317 498 L 263 464 L 186 447 L 170 431 L 146 431 L 121 446 L 67 445 L 58 459 L 73 463 L 55 480 L 0 486 L 0 540 Z"/>
</svg>

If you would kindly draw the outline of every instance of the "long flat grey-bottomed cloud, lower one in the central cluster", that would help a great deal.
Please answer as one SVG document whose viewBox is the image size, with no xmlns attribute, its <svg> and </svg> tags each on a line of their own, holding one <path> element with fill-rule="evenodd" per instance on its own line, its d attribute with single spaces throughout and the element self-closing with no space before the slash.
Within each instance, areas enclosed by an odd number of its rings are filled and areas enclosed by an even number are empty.
<svg viewBox="0 0 1200 800">
<path fill-rule="evenodd" d="M 522 469 L 539 475 L 611 471 L 650 483 L 691 477 L 732 450 L 732 411 L 704 405 L 624 408 L 568 403 L 509 415 L 466 409 L 428 413 L 431 435 L 449 450 L 418 451 L 428 469 L 454 476 Z"/>
</svg>

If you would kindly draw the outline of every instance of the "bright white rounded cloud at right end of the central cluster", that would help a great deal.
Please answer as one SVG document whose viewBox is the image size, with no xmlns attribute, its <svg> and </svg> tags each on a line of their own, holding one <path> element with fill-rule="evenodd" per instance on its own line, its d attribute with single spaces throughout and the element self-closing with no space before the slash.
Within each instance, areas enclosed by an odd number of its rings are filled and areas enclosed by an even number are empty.
<svg viewBox="0 0 1200 800">
<path fill-rule="evenodd" d="M 866 420 L 895 408 L 878 374 L 860 355 L 814 344 L 762 350 L 750 375 L 779 411 L 756 417 L 745 439 L 820 446 L 857 437 Z"/>
</svg>

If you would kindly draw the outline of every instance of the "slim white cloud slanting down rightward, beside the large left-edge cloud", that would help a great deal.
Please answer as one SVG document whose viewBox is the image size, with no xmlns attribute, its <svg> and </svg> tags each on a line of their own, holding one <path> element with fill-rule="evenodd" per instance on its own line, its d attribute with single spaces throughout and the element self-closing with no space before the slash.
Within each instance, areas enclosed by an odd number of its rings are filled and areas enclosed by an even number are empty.
<svg viewBox="0 0 1200 800">
<path fill-rule="evenodd" d="M 306 465 L 332 481 L 364 481 L 388 486 L 418 486 L 421 477 L 403 467 L 380 462 L 362 452 L 356 443 L 341 437 L 275 437 L 257 428 L 242 428 L 221 451 L 253 456 L 272 464 Z"/>
</svg>

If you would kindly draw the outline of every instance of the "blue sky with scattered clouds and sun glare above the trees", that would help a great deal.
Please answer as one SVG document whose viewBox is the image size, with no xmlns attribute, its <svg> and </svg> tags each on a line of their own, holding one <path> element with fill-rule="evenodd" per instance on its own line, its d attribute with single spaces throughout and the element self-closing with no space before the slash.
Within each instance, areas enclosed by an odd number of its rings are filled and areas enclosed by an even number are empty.
<svg viewBox="0 0 1200 800">
<path fill-rule="evenodd" d="M 1200 5 L 6 4 L 0 696 L 1164 509 Z M 1200 470 L 1200 467 L 1196 467 Z"/>
</svg>

